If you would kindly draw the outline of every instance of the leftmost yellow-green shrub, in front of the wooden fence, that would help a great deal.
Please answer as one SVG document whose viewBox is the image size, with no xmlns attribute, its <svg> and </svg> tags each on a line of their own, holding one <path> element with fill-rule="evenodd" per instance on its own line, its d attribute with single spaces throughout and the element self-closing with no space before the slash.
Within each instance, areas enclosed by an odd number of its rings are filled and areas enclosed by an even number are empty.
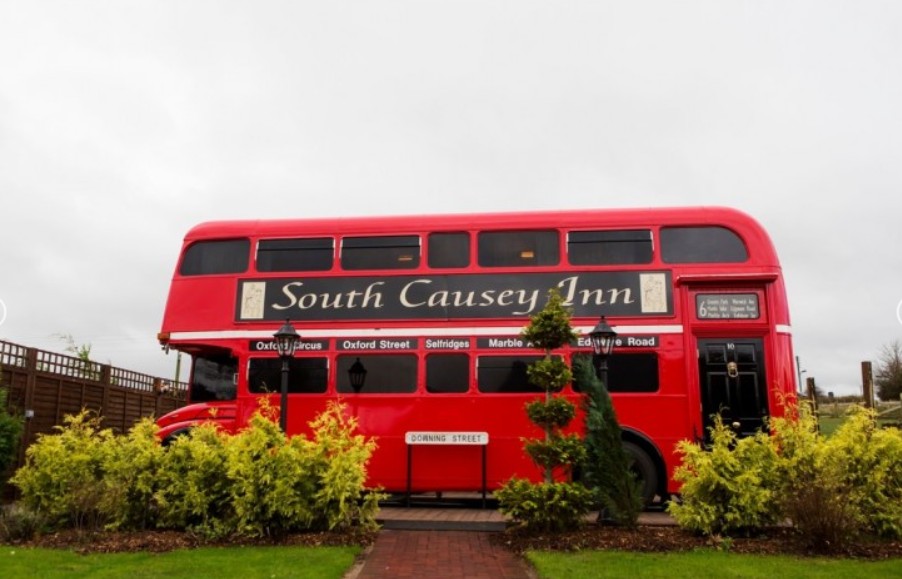
<svg viewBox="0 0 902 579">
<path fill-rule="evenodd" d="M 101 502 L 113 433 L 87 410 L 67 416 L 59 433 L 43 435 L 25 452 L 13 475 L 25 505 L 51 526 L 96 529 L 105 522 Z"/>
</svg>

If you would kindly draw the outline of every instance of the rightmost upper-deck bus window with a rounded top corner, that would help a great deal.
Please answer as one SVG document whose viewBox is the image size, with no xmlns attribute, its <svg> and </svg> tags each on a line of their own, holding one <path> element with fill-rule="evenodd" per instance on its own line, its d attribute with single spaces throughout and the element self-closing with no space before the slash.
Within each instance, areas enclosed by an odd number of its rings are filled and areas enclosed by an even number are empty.
<svg viewBox="0 0 902 579">
<path fill-rule="evenodd" d="M 726 227 L 662 227 L 661 258 L 665 263 L 741 263 L 749 254 Z"/>
</svg>

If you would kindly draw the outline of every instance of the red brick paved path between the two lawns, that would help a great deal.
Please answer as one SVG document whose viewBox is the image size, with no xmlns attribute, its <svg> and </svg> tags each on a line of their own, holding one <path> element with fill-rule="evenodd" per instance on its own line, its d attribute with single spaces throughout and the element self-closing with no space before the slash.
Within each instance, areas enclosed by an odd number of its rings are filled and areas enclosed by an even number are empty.
<svg viewBox="0 0 902 579">
<path fill-rule="evenodd" d="M 487 532 L 394 531 L 379 533 L 356 579 L 527 579 L 530 567 L 489 541 Z"/>
</svg>

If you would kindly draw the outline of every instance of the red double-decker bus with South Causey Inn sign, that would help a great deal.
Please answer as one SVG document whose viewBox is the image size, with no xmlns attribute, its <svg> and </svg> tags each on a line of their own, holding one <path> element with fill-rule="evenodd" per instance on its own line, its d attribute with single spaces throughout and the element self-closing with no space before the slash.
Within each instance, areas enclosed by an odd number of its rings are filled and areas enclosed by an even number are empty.
<svg viewBox="0 0 902 579">
<path fill-rule="evenodd" d="M 538 478 L 522 439 L 539 434 L 524 405 L 540 352 L 519 332 L 551 288 L 577 332 L 604 315 L 618 333 L 608 389 L 648 501 L 677 491 L 675 444 L 702 439 L 715 413 L 748 434 L 795 392 L 780 264 L 736 210 L 223 221 L 187 234 L 172 280 L 160 341 L 192 358 L 191 404 L 160 418 L 161 436 L 205 420 L 234 432 L 262 398 L 278 407 L 273 334 L 289 319 L 302 336 L 289 434 L 340 400 L 378 439 L 372 485 Z M 590 352 L 585 338 L 558 354 Z M 410 464 L 410 444 L 455 433 L 484 445 L 485 472 L 468 444 L 418 449 Z"/>
</svg>

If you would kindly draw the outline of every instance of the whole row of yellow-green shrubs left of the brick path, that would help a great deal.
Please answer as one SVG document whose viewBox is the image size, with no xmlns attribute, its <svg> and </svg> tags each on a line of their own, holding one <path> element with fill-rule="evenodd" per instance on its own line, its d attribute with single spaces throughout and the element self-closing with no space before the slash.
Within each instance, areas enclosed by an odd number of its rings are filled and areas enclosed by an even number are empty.
<svg viewBox="0 0 902 579">
<path fill-rule="evenodd" d="M 375 442 L 330 404 L 312 439 L 285 435 L 267 408 L 229 435 L 203 424 L 168 447 L 149 419 L 125 436 L 87 412 L 29 448 L 13 482 L 23 502 L 56 526 L 188 529 L 208 538 L 373 528 L 379 493 L 367 493 Z"/>
</svg>

